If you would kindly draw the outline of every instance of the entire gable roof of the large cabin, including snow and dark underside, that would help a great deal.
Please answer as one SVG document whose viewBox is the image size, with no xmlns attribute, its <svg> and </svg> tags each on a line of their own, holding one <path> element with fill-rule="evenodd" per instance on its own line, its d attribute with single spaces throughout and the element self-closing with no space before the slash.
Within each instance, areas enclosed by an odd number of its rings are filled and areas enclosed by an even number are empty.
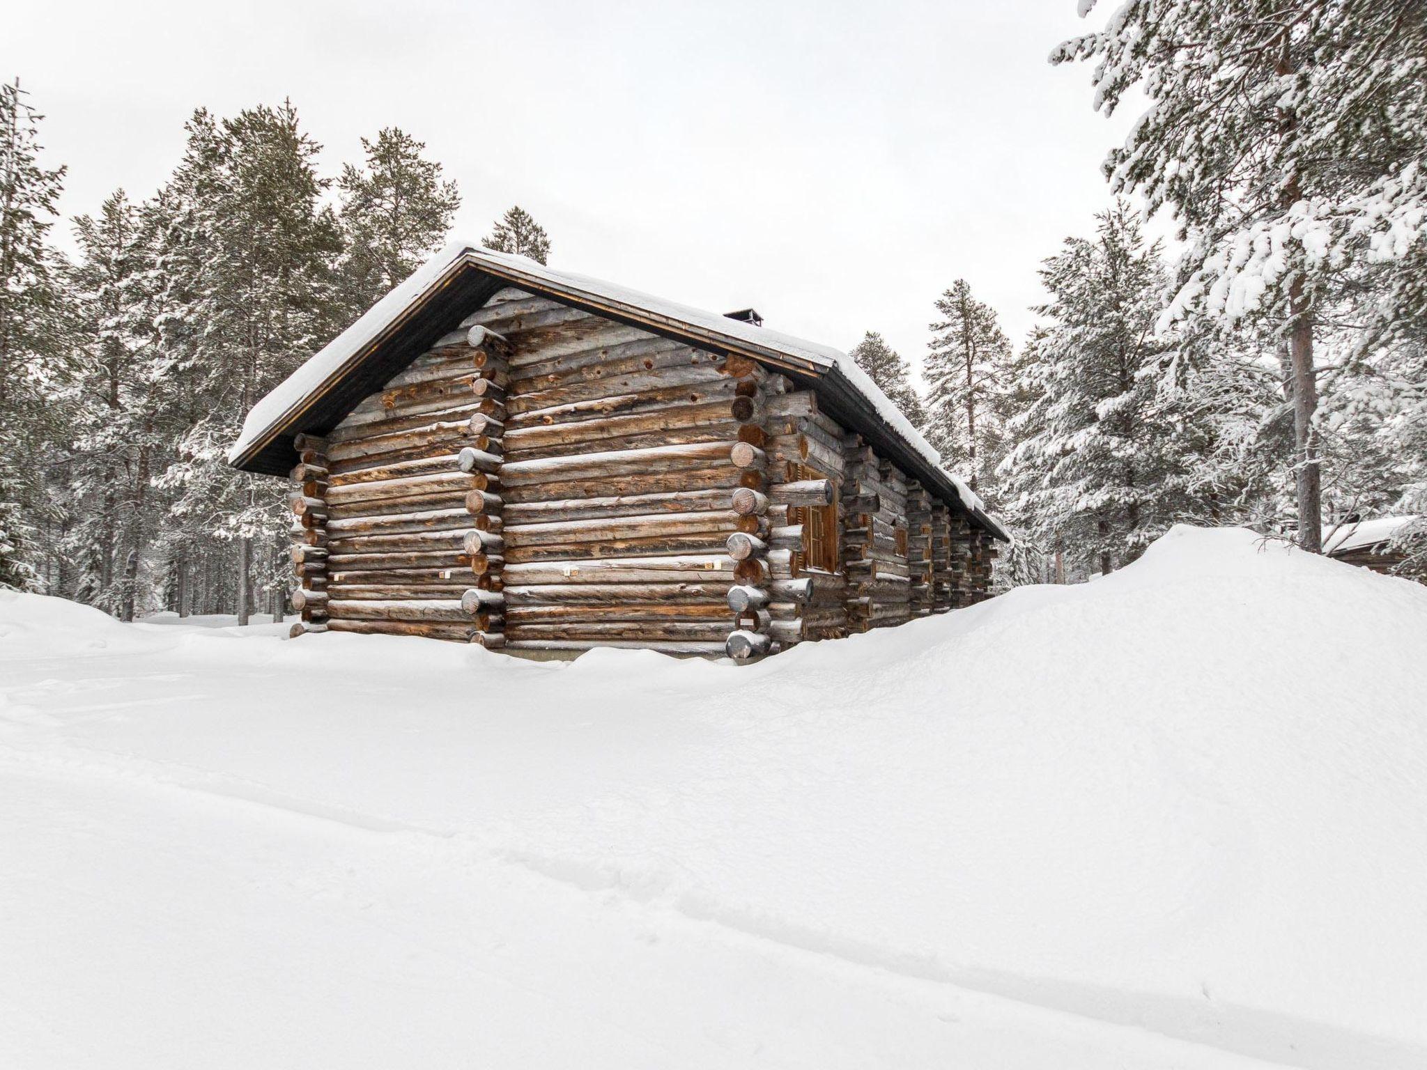
<svg viewBox="0 0 1427 1070">
<path fill-rule="evenodd" d="M 829 415 L 862 434 L 929 491 L 959 499 L 979 526 L 1010 541 L 985 502 L 942 468 L 932 445 L 845 352 L 468 241 L 454 241 L 437 253 L 258 401 L 228 451 L 228 464 L 250 472 L 285 474 L 297 461 L 291 445 L 295 434 L 330 431 L 415 354 L 508 285 L 652 334 L 776 367 L 815 388 Z"/>
</svg>

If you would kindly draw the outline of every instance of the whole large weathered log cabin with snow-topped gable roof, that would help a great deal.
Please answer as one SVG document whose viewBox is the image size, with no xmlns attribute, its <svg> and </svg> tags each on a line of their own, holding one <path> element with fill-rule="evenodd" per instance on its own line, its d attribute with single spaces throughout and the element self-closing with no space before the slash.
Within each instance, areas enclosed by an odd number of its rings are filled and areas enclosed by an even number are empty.
<svg viewBox="0 0 1427 1070">
<path fill-rule="evenodd" d="M 980 601 L 1007 539 L 845 354 L 464 243 L 230 461 L 293 482 L 294 635 L 743 659 Z"/>
</svg>

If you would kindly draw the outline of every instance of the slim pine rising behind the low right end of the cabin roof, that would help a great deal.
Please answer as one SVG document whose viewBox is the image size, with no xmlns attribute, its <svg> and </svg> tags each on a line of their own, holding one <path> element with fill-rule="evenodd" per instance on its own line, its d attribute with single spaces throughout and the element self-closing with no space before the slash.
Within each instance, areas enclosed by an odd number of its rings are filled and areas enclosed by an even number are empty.
<svg viewBox="0 0 1427 1070">
<path fill-rule="evenodd" d="M 1009 388 L 1010 342 L 990 305 L 956 280 L 936 300 L 942 320 L 930 325 L 926 360 L 928 427 L 932 445 L 953 468 L 965 469 L 973 491 L 995 478 L 1000 417 Z"/>
</svg>

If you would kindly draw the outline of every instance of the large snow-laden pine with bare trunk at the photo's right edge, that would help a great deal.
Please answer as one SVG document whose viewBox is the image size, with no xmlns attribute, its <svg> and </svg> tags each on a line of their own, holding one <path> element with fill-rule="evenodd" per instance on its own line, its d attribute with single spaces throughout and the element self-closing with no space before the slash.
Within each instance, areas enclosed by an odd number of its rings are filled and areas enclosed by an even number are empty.
<svg viewBox="0 0 1427 1070">
<path fill-rule="evenodd" d="M 1082 0 L 1082 14 L 1095 0 Z M 1184 243 L 1169 314 L 1267 321 L 1293 372 L 1299 541 L 1321 546 L 1316 342 L 1357 272 L 1390 285 L 1359 341 L 1391 334 L 1427 282 L 1427 9 L 1420 0 L 1126 0 L 1052 61 L 1093 60 L 1095 104 L 1150 98 L 1110 153 L 1114 190 L 1172 210 Z"/>
</svg>

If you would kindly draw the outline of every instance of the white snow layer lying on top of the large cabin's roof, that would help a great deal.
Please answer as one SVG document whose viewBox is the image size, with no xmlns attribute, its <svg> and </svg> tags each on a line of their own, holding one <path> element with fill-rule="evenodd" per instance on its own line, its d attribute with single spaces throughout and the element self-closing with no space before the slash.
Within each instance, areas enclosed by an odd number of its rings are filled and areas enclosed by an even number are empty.
<svg viewBox="0 0 1427 1070">
<path fill-rule="evenodd" d="M 1010 541 L 1010 532 L 1006 531 L 1005 525 L 986 512 L 986 502 L 959 475 L 942 465 L 940 454 L 912 425 L 912 421 L 882 392 L 880 387 L 872 381 L 872 377 L 841 350 L 741 320 L 729 320 L 719 312 L 709 312 L 692 305 L 668 301 L 589 275 L 572 271 L 555 271 L 528 257 L 495 253 L 484 248 L 479 243 L 465 240 L 447 243 L 441 251 L 434 254 L 407 280 L 358 317 L 351 327 L 338 334 L 298 367 L 297 371 L 264 395 L 244 418 L 243 431 L 233 444 L 233 448 L 228 449 L 228 462 L 235 464 L 273 427 L 294 414 L 314 391 L 332 375 L 342 371 L 344 365 L 375 341 L 401 312 L 418 304 L 451 268 L 462 261 L 469 261 L 477 267 L 487 265 L 502 271 L 514 271 L 529 277 L 537 284 L 545 282 L 557 291 L 584 291 L 596 300 L 638 308 L 671 320 L 674 324 L 685 324 L 715 335 L 725 335 L 733 341 L 771 350 L 822 370 L 836 368 L 848 379 L 849 385 L 866 398 L 876 411 L 878 418 L 956 488 L 968 511 L 976 514 L 979 519 L 986 521 L 995 528 L 993 534 L 1000 535 L 1007 542 Z"/>
</svg>

